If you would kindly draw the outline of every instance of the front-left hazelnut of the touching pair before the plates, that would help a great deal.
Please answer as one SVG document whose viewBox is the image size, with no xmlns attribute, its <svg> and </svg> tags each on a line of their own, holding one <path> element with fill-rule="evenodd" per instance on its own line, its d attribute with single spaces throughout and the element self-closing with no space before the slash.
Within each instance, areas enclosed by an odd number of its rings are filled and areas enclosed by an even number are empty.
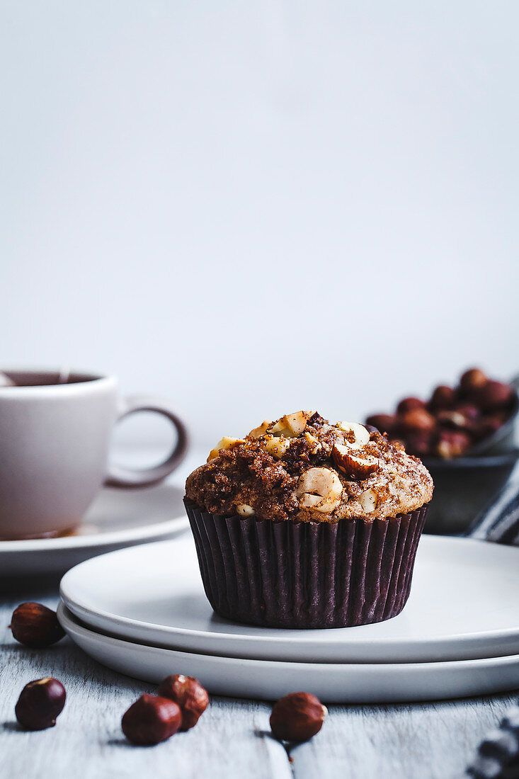
<svg viewBox="0 0 519 779">
<path fill-rule="evenodd" d="M 122 715 L 122 732 L 132 744 L 151 746 L 166 741 L 182 724 L 180 707 L 158 695 L 141 695 Z"/>
</svg>

